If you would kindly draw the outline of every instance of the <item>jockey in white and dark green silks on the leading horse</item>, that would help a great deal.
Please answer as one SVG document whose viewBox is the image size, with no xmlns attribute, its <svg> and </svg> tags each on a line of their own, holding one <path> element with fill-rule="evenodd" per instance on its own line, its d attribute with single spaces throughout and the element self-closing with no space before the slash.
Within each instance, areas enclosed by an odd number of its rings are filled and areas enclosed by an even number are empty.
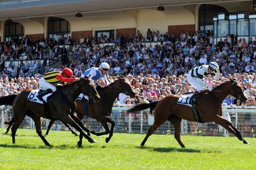
<svg viewBox="0 0 256 170">
<path fill-rule="evenodd" d="M 204 88 L 207 88 L 209 91 L 212 90 L 212 87 L 207 86 L 203 78 L 211 75 L 214 79 L 220 78 L 219 66 L 216 62 L 210 62 L 209 65 L 201 65 L 199 67 L 195 67 L 189 71 L 187 81 L 194 86 L 197 91 L 202 91 Z"/>
</svg>

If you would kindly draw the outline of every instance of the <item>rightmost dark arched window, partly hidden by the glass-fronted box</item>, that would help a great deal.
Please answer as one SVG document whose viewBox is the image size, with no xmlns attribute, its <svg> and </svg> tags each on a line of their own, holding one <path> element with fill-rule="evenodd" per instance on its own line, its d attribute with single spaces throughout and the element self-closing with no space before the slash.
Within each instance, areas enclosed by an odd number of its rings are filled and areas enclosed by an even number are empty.
<svg viewBox="0 0 256 170">
<path fill-rule="evenodd" d="M 205 30 L 212 30 L 213 29 L 213 14 L 224 12 L 227 13 L 228 11 L 216 5 L 208 5 L 203 4 L 199 8 L 199 28 L 204 28 Z"/>
</svg>

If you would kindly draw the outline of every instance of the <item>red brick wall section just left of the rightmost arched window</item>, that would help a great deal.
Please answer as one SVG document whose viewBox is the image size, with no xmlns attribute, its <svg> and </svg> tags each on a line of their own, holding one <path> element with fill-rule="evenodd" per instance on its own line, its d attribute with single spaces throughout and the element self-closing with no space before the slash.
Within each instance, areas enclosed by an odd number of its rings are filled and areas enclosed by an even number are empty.
<svg viewBox="0 0 256 170">
<path fill-rule="evenodd" d="M 168 33 L 170 33 L 170 34 L 174 33 L 174 35 L 176 37 L 180 37 L 180 34 L 181 34 L 182 31 L 184 31 L 185 33 L 186 33 L 186 31 L 195 32 L 195 24 L 179 25 L 179 26 L 168 26 Z"/>
</svg>

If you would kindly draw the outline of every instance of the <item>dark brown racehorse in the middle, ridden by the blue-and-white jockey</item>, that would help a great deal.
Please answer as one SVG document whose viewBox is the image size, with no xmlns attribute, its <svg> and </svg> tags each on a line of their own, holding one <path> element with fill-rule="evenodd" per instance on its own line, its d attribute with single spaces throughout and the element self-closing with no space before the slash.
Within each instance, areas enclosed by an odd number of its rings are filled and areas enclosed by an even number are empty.
<svg viewBox="0 0 256 170">
<path fill-rule="evenodd" d="M 108 143 L 113 136 L 113 130 L 115 126 L 115 122 L 113 119 L 109 118 L 109 115 L 111 114 L 113 102 L 115 101 L 118 94 L 123 93 L 127 94 L 131 98 L 135 96 L 135 91 L 131 87 L 130 82 L 128 82 L 125 77 L 117 76 L 118 80 L 111 83 L 105 88 L 97 87 L 97 91 L 99 93 L 100 99 L 97 103 L 87 103 L 87 111 L 88 116 L 96 119 L 97 121 L 101 122 L 102 126 L 105 128 L 105 132 L 99 133 L 94 130 L 90 131 L 86 127 L 84 127 L 84 130 L 86 130 L 87 134 L 90 135 L 90 133 L 101 136 L 101 135 L 107 135 L 109 133 L 109 136 L 105 139 L 105 142 Z M 77 117 L 79 119 L 83 119 L 84 117 L 84 102 L 81 100 L 76 100 L 76 113 Z M 111 123 L 111 130 L 108 128 L 107 122 Z M 51 122 L 48 125 L 46 135 L 48 134 L 52 124 L 54 121 L 51 120 Z M 80 141 L 78 143 L 79 147 L 81 147 L 81 136 Z"/>
</svg>

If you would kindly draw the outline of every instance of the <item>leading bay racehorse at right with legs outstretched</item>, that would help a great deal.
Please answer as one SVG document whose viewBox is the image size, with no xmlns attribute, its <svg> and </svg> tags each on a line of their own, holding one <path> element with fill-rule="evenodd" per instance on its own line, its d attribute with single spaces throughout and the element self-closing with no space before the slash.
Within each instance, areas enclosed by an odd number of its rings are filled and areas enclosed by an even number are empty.
<svg viewBox="0 0 256 170">
<path fill-rule="evenodd" d="M 245 102 L 247 100 L 247 96 L 244 94 L 243 88 L 239 82 L 231 77 L 230 81 L 215 87 L 212 91 L 205 91 L 199 94 L 196 107 L 198 109 L 199 116 L 201 117 L 201 122 L 215 122 L 233 133 L 239 140 L 243 141 L 244 144 L 249 144 L 245 139 L 243 139 L 239 130 L 237 130 L 231 122 L 222 117 L 221 103 L 228 94 L 235 96 L 236 99 L 240 99 L 241 102 Z M 180 140 L 181 120 L 186 119 L 196 122 L 196 119 L 191 107 L 177 104 L 179 97 L 180 96 L 178 95 L 171 94 L 160 101 L 149 104 L 140 104 L 128 110 L 128 112 L 136 112 L 147 108 L 151 108 L 151 110 L 154 109 L 154 124 L 148 130 L 141 146 L 144 146 L 148 137 L 151 136 L 151 134 L 154 133 L 160 125 L 168 120 L 175 128 L 175 139 L 181 147 L 185 147 Z"/>
</svg>

